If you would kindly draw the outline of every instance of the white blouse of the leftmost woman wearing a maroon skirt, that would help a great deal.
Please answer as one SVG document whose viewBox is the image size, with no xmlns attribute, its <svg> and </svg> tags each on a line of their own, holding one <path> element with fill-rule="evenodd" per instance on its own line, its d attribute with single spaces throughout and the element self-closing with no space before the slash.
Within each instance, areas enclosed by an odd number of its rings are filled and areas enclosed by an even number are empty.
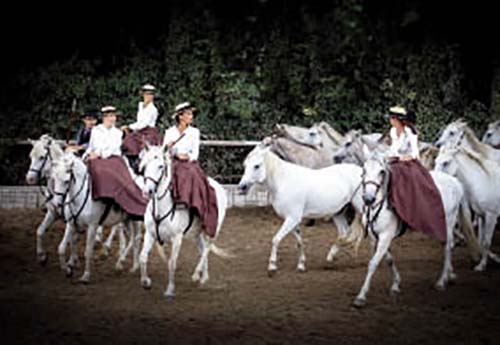
<svg viewBox="0 0 500 345">
<path fill-rule="evenodd" d="M 116 127 L 106 128 L 103 124 L 97 125 L 90 134 L 89 147 L 85 151 L 84 158 L 91 152 L 95 152 L 101 158 L 113 155 L 121 156 L 122 134 Z"/>
</svg>

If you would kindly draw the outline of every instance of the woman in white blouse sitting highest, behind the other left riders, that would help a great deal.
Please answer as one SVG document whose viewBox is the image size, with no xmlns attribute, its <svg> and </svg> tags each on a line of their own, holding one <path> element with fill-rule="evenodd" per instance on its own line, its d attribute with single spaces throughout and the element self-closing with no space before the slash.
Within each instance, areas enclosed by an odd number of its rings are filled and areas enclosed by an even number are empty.
<svg viewBox="0 0 500 345">
<path fill-rule="evenodd" d="M 144 143 L 161 145 L 163 142 L 156 129 L 158 109 L 154 105 L 155 92 L 156 88 L 151 84 L 142 87 L 143 101 L 139 102 L 137 121 L 121 127 L 121 130 L 127 133 L 123 141 L 123 154 L 129 158 L 130 165 L 136 171 Z"/>
</svg>

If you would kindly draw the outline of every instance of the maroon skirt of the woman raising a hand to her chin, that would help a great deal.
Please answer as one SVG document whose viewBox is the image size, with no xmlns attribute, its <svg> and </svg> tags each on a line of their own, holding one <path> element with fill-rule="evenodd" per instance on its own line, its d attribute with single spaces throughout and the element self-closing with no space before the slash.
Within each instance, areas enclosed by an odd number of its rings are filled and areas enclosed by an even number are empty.
<svg viewBox="0 0 500 345">
<path fill-rule="evenodd" d="M 203 230 L 210 237 L 217 231 L 218 209 L 215 190 L 210 186 L 198 162 L 174 160 L 172 166 L 172 198 L 195 210 Z"/>
</svg>

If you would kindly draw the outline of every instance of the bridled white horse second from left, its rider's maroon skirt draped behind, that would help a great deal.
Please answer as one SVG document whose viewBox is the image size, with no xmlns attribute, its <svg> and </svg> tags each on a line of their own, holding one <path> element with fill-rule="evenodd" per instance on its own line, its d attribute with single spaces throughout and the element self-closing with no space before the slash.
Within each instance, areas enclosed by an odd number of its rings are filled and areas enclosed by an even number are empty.
<svg viewBox="0 0 500 345">
<path fill-rule="evenodd" d="M 113 205 L 109 213 L 105 215 L 106 205 L 102 201 L 92 199 L 89 171 L 85 163 L 71 152 L 66 152 L 57 161 L 52 170 L 51 177 L 54 181 L 54 198 L 52 199 L 52 203 L 55 207 L 61 209 L 67 225 L 64 237 L 58 248 L 61 269 L 68 276 L 72 275 L 73 267 L 68 266 L 65 262 L 66 246 L 71 241 L 76 230 L 87 227 L 85 271 L 80 281 L 82 283 L 89 283 L 97 228 L 100 225 L 114 226 L 120 222 L 125 222 L 130 234 L 129 248 L 130 246 L 134 248 L 134 264 L 130 271 L 135 272 L 139 268 L 138 256 L 141 237 L 137 224 L 135 224 L 125 211 L 116 207 L 116 205 Z M 99 224 L 100 221 L 102 224 Z M 127 253 L 127 249 L 121 253 L 116 264 L 117 269 L 122 268 Z"/>
</svg>

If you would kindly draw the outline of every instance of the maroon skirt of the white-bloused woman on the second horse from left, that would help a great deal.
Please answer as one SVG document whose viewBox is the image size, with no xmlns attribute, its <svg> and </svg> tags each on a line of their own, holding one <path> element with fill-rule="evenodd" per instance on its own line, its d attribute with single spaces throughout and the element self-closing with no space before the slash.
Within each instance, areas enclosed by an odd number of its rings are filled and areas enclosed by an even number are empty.
<svg viewBox="0 0 500 345">
<path fill-rule="evenodd" d="M 134 216 L 144 216 L 148 200 L 142 196 L 122 157 L 88 161 L 92 180 L 92 198 L 111 199 L 125 212 Z"/>
</svg>

